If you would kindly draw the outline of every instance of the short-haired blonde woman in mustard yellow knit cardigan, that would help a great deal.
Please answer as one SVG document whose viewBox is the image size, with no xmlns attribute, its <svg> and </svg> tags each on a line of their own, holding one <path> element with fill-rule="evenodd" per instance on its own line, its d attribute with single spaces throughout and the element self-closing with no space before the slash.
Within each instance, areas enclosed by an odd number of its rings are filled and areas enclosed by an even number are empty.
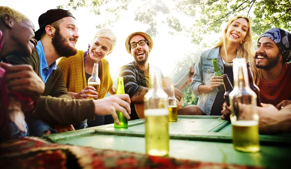
<svg viewBox="0 0 291 169">
<path fill-rule="evenodd" d="M 105 56 L 112 52 L 116 41 L 113 31 L 101 29 L 95 34 L 88 51 L 79 50 L 75 56 L 63 57 L 58 62 L 58 66 L 64 74 L 65 85 L 73 99 L 86 99 L 87 97 L 102 99 L 108 92 L 110 94 L 116 93 L 116 87 L 113 85 L 109 72 L 109 63 L 104 59 Z M 87 80 L 91 77 L 94 63 L 97 62 L 98 76 L 101 81 L 99 92 L 96 92 L 94 87 L 87 86 Z M 87 94 L 89 92 L 91 93 L 90 95 Z M 93 126 L 102 125 L 104 117 L 97 117 L 98 120 L 100 122 L 93 124 Z"/>
</svg>

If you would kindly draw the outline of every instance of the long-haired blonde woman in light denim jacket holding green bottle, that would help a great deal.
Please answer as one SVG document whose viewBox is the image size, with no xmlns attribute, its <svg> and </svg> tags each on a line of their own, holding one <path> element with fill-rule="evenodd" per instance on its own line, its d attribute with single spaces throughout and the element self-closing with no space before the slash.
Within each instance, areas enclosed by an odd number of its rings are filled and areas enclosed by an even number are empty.
<svg viewBox="0 0 291 169">
<path fill-rule="evenodd" d="M 200 95 L 197 107 L 207 115 L 221 115 L 225 102 L 224 92 L 217 87 L 223 85 L 222 77 L 213 76 L 212 59 L 216 59 L 221 72 L 228 75 L 233 85 L 232 60 L 246 58 L 253 63 L 254 47 L 252 43 L 251 23 L 247 17 L 236 16 L 231 19 L 218 44 L 206 50 L 200 56 L 192 77 L 191 90 L 195 96 Z M 255 64 L 251 64 L 254 69 Z M 223 118 L 223 116 L 222 116 Z"/>
</svg>

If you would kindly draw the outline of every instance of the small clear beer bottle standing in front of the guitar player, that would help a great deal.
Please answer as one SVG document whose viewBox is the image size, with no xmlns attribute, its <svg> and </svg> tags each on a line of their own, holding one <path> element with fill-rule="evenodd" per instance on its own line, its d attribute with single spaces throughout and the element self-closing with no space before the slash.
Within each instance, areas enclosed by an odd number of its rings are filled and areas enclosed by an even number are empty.
<svg viewBox="0 0 291 169">
<path fill-rule="evenodd" d="M 178 121 L 178 108 L 177 108 L 177 99 L 175 97 L 174 85 L 170 85 L 170 96 L 168 100 L 169 100 L 169 121 L 177 122 Z"/>
</svg>

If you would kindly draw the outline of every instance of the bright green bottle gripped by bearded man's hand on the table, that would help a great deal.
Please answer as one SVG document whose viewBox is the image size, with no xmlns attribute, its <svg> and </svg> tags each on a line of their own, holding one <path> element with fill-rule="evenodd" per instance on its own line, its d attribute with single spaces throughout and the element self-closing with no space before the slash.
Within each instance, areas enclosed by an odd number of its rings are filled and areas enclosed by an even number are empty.
<svg viewBox="0 0 291 169">
<path fill-rule="evenodd" d="M 123 77 L 117 77 L 117 88 L 116 88 L 116 94 L 124 94 L 124 84 L 123 84 Z M 114 128 L 128 128 L 128 120 L 125 118 L 125 116 L 120 111 L 116 111 L 118 120 L 120 122 L 120 125 L 117 125 L 114 122 Z"/>
</svg>

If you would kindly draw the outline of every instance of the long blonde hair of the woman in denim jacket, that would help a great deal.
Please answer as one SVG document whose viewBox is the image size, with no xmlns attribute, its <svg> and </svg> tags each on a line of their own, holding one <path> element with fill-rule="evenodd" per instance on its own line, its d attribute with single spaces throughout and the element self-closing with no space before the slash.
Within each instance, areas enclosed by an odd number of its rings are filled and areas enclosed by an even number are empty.
<svg viewBox="0 0 291 169">
<path fill-rule="evenodd" d="M 227 23 L 226 28 L 224 29 L 223 37 L 220 39 L 220 41 L 217 43 L 217 45 L 215 47 L 222 47 L 223 46 L 225 49 L 225 53 L 226 53 L 226 31 L 227 31 L 228 27 L 232 24 L 232 22 L 239 19 L 239 18 L 243 18 L 247 21 L 248 30 L 246 32 L 244 40 L 237 47 L 237 55 L 238 55 L 238 57 L 245 58 L 247 61 L 249 61 L 250 65 L 251 65 L 251 69 L 252 69 L 253 74 L 254 74 L 254 79 L 258 79 L 261 76 L 260 76 L 259 70 L 256 68 L 256 64 L 255 64 L 255 60 L 254 60 L 255 48 L 254 48 L 253 40 L 252 40 L 252 27 L 251 27 L 251 21 L 249 18 L 242 16 L 242 15 L 238 15 L 238 16 L 235 16 L 234 18 L 230 19 Z M 226 53 L 226 56 L 227 56 L 227 53 Z M 259 82 L 257 82 L 257 83 L 259 84 Z"/>
</svg>

